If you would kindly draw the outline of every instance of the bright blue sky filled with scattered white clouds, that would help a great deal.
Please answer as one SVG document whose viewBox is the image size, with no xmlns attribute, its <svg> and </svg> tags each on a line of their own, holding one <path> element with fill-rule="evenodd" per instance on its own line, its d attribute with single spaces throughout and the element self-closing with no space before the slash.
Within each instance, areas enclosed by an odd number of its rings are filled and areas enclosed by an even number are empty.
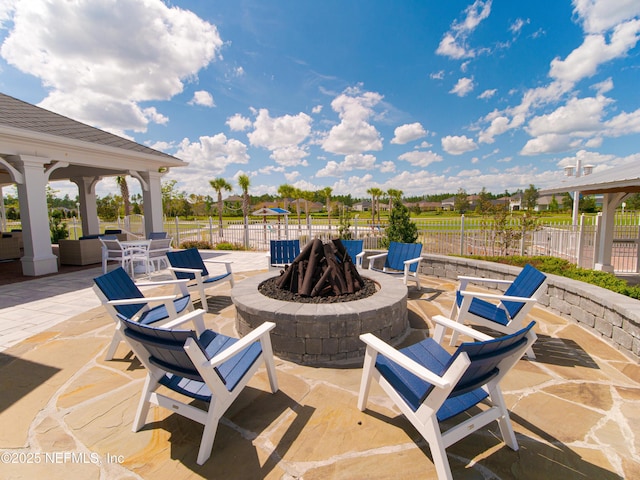
<svg viewBox="0 0 640 480">
<path fill-rule="evenodd" d="M 0 0 L 0 25 L 0 91 L 189 162 L 187 193 L 500 193 L 640 161 L 638 0 Z"/>
</svg>

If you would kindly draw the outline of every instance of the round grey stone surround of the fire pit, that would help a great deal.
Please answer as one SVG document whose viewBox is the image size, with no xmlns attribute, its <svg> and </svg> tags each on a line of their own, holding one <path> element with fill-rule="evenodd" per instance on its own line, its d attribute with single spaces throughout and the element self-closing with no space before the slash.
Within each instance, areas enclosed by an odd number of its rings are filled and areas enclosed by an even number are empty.
<svg viewBox="0 0 640 480">
<path fill-rule="evenodd" d="M 360 334 L 371 332 L 395 344 L 408 330 L 407 287 L 397 278 L 365 270 L 362 280 L 375 284 L 373 295 L 345 302 L 301 303 L 260 293 L 259 286 L 273 277 L 268 272 L 238 282 L 231 298 L 240 335 L 265 321 L 276 324 L 271 340 L 280 358 L 315 366 L 360 363 L 365 350 Z"/>
</svg>

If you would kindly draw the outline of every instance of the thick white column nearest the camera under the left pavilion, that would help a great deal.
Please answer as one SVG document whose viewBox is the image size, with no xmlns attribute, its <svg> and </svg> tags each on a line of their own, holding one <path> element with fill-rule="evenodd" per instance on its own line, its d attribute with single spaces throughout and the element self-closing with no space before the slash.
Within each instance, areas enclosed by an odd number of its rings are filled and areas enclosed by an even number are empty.
<svg viewBox="0 0 640 480">
<path fill-rule="evenodd" d="M 19 155 L 11 160 L 23 177 L 22 182 L 17 183 L 24 240 L 22 273 L 27 276 L 55 273 L 58 260 L 51 250 L 46 194 L 49 176 L 44 168 L 51 159 Z"/>
</svg>

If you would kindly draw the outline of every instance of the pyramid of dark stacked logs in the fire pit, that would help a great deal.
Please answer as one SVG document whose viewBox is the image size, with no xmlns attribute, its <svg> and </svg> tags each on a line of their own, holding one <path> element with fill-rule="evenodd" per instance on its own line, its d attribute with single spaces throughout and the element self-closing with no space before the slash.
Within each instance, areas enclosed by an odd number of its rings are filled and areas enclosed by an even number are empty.
<svg viewBox="0 0 640 480">
<path fill-rule="evenodd" d="M 340 240 L 309 242 L 276 279 L 276 286 L 301 296 L 352 294 L 364 281 Z"/>
</svg>

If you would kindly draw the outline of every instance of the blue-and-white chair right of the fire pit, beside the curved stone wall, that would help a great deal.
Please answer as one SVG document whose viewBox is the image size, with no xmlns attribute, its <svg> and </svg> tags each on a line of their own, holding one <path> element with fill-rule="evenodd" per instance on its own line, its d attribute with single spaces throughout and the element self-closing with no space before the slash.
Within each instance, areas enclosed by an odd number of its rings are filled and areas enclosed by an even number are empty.
<svg viewBox="0 0 640 480">
<path fill-rule="evenodd" d="M 547 276 L 527 264 L 514 280 L 459 276 L 460 285 L 456 289 L 456 302 L 450 317 L 459 323 L 474 323 L 501 333 L 513 333 L 522 328 L 524 321 L 538 297 L 544 291 Z M 467 290 L 469 283 L 490 283 L 506 285 L 504 294 Z M 457 335 L 451 336 L 455 345 Z M 535 359 L 533 350 L 527 357 Z"/>
</svg>

